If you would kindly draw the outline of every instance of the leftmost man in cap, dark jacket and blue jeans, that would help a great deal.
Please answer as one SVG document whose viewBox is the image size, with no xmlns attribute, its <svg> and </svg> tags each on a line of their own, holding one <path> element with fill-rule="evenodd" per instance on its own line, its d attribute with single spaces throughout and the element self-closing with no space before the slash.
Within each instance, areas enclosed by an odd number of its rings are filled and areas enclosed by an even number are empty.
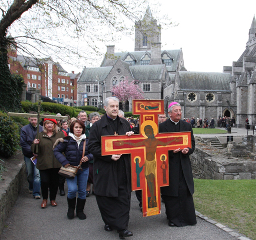
<svg viewBox="0 0 256 240">
<path fill-rule="evenodd" d="M 37 114 L 34 111 L 29 113 Z M 40 173 L 36 165 L 30 159 L 35 154 L 31 151 L 30 146 L 37 135 L 37 117 L 29 117 L 29 124 L 21 128 L 20 143 L 24 160 L 27 167 L 29 192 L 33 193 L 35 199 L 40 199 Z M 43 131 L 43 127 L 39 125 L 39 132 Z"/>
</svg>

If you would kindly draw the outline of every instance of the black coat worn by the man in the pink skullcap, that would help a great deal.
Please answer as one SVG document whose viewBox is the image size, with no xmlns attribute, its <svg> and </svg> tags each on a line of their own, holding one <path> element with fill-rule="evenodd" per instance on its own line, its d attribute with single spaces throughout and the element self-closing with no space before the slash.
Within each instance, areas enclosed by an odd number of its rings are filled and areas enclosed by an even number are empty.
<svg viewBox="0 0 256 240">
<path fill-rule="evenodd" d="M 171 125 L 171 120 L 164 121 L 159 124 L 159 132 L 173 132 L 173 127 Z M 194 181 L 192 174 L 192 167 L 189 155 L 193 153 L 195 149 L 195 139 L 193 135 L 192 125 L 188 122 L 180 120 L 179 131 L 191 131 L 191 143 L 192 148 L 189 148 L 187 154 L 183 154 L 181 151 L 173 153 L 173 151 L 168 151 L 169 155 L 169 186 L 161 187 L 161 193 L 169 196 L 178 196 L 179 193 L 179 167 L 180 162 L 183 170 L 183 174 L 188 185 L 191 194 L 194 193 Z M 174 160 L 174 154 L 179 154 L 180 161 Z"/>
</svg>

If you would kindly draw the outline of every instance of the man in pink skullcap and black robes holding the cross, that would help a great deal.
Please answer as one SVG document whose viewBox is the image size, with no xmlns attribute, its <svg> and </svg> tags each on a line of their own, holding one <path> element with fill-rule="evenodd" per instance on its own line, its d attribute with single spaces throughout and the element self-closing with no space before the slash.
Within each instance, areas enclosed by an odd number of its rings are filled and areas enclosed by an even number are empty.
<svg viewBox="0 0 256 240">
<path fill-rule="evenodd" d="M 181 120 L 181 106 L 178 102 L 169 105 L 170 119 L 159 125 L 159 132 L 191 131 L 191 148 L 176 149 L 169 155 L 169 186 L 161 187 L 169 226 L 196 224 L 193 202 L 194 181 L 189 155 L 195 149 L 192 125 Z"/>
</svg>

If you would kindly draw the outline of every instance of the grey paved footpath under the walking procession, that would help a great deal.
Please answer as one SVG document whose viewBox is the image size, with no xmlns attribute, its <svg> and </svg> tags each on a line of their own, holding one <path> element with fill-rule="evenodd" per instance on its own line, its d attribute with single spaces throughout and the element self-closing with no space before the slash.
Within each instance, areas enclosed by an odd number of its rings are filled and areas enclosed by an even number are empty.
<svg viewBox="0 0 256 240">
<path fill-rule="evenodd" d="M 66 184 L 65 184 L 66 185 Z M 67 189 L 66 189 L 67 192 Z M 42 209 L 41 199 L 36 200 L 23 187 L 18 200 L 8 218 L 0 239 L 82 239 L 82 240 L 108 240 L 119 239 L 116 230 L 106 232 L 103 229 L 99 209 L 94 195 L 87 198 L 85 213 L 87 219 L 77 217 L 68 219 L 66 196 L 57 195 L 58 206 Z M 155 216 L 143 217 L 140 211 L 135 192 L 132 193 L 129 229 L 134 236 L 129 240 L 137 239 L 175 239 L 175 240 L 235 240 L 216 225 L 197 217 L 197 224 L 185 227 L 170 227 L 165 215 L 164 203 L 162 213 Z M 235 233 L 233 231 L 233 233 Z M 238 238 L 244 239 L 244 238 Z M 246 238 L 247 239 L 247 238 Z"/>
</svg>

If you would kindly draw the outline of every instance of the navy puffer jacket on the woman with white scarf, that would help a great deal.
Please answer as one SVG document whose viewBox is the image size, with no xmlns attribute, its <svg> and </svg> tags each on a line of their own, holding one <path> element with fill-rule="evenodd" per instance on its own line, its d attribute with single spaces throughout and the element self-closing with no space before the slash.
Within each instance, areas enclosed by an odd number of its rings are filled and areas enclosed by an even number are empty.
<svg viewBox="0 0 256 240">
<path fill-rule="evenodd" d="M 53 150 L 56 159 L 63 166 L 68 163 L 73 166 L 78 166 L 83 155 L 84 140 L 86 140 L 84 156 L 87 156 L 89 160 L 83 162 L 81 166 L 82 168 L 87 168 L 89 166 L 88 162 L 93 160 L 93 155 L 88 152 L 88 139 L 86 138 L 82 139 L 78 148 L 77 142 L 73 137 L 65 136 L 63 142 L 59 142 Z M 65 155 L 63 155 L 62 152 L 64 152 Z"/>
</svg>

